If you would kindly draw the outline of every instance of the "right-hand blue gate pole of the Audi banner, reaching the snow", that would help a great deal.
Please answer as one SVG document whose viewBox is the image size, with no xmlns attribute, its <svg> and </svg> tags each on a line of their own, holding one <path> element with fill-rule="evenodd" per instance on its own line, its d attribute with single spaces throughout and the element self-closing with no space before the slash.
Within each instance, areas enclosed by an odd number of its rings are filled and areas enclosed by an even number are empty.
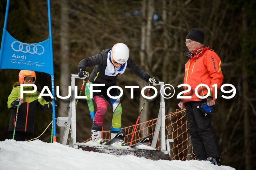
<svg viewBox="0 0 256 170">
<path fill-rule="evenodd" d="M 53 52 L 52 52 L 52 23 L 51 23 L 51 11 L 50 11 L 50 0 L 47 1 L 48 4 L 48 22 L 49 22 L 49 39 L 50 39 L 50 63 L 51 63 L 51 77 L 52 77 L 52 119 L 53 119 L 53 142 L 57 142 L 56 137 L 56 121 L 55 121 L 55 90 L 54 90 L 54 73 L 53 73 Z"/>
</svg>

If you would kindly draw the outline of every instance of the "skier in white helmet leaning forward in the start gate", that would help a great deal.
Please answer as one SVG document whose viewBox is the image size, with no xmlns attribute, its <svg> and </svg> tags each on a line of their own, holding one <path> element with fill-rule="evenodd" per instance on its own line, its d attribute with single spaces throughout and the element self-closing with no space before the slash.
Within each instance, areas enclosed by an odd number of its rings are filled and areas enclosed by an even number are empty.
<svg viewBox="0 0 256 170">
<path fill-rule="evenodd" d="M 129 57 L 129 49 L 127 45 L 123 43 L 115 44 L 111 49 L 106 49 L 101 51 L 92 57 L 82 59 L 78 65 L 78 76 L 80 78 L 86 78 L 89 75 L 86 72 L 86 68 L 90 66 L 95 66 L 93 72 L 91 73 L 90 79 L 86 84 L 86 90 L 90 84 L 104 84 L 105 86 L 94 86 L 94 90 L 101 90 L 101 92 L 93 93 L 93 100 L 97 105 L 97 111 L 93 119 L 93 125 L 91 132 L 93 133 L 92 141 L 97 143 L 104 143 L 105 141 L 101 138 L 101 130 L 103 124 L 103 117 L 107 110 L 107 103 L 110 105 L 113 111 L 113 119 L 111 126 L 111 139 L 116 136 L 116 134 L 121 131 L 121 114 L 122 107 L 120 104 L 120 98 L 113 99 L 107 95 L 107 89 L 110 86 L 115 86 L 117 81 L 117 76 L 125 72 L 126 67 L 139 76 L 142 80 L 146 82 L 153 83 L 153 85 L 158 84 L 158 80 L 154 77 L 149 76 L 144 70 L 142 70 L 138 65 L 136 65 L 132 58 Z M 118 91 L 116 88 L 110 90 L 111 96 L 118 96 Z M 87 101 L 90 97 L 87 96 Z M 89 103 L 88 103 L 89 104 Z M 90 105 L 89 105 L 90 107 Z M 126 146 L 123 140 L 119 140 L 116 144 L 120 146 Z"/>
</svg>

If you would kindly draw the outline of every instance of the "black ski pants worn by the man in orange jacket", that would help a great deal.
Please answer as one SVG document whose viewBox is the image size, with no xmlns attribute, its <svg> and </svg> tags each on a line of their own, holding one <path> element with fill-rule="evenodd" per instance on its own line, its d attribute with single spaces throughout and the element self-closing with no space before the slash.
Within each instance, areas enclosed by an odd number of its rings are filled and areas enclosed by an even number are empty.
<svg viewBox="0 0 256 170">
<path fill-rule="evenodd" d="M 221 150 L 217 136 L 212 129 L 211 115 L 204 116 L 197 109 L 197 106 L 202 105 L 202 103 L 202 101 L 189 101 L 186 103 L 186 116 L 193 150 L 196 159 L 218 158 L 221 157 Z"/>
</svg>

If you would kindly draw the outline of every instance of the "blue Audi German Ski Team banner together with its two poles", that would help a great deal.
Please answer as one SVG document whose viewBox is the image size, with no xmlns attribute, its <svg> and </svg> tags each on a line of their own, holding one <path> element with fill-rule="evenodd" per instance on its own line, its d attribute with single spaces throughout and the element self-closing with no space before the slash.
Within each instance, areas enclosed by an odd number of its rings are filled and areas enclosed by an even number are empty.
<svg viewBox="0 0 256 170">
<path fill-rule="evenodd" d="M 52 51 L 52 23 L 50 0 L 47 0 L 49 38 L 43 42 L 28 44 L 13 38 L 6 30 L 10 0 L 7 0 L 4 18 L 4 28 L 0 49 L 0 70 L 19 69 L 44 72 L 52 76 L 52 95 L 54 97 L 53 51 Z M 52 140 L 57 142 L 55 122 L 55 100 L 52 101 Z"/>
</svg>

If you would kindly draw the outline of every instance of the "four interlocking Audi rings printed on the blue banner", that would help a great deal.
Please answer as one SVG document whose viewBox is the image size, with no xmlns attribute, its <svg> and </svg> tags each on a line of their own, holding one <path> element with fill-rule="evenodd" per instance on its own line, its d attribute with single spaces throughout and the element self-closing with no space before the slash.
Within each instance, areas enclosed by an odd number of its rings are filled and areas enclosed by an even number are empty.
<svg viewBox="0 0 256 170">
<path fill-rule="evenodd" d="M 14 43 L 19 43 L 19 49 L 14 49 L 13 45 Z M 25 48 L 26 47 L 26 50 Z M 33 51 L 31 52 L 30 49 L 33 47 Z M 41 53 L 37 53 L 38 49 L 40 48 L 40 52 Z M 42 45 L 34 45 L 34 44 L 27 44 L 27 43 L 22 43 L 22 42 L 19 42 L 19 41 L 14 41 L 12 42 L 12 50 L 14 51 L 21 51 L 23 53 L 30 53 L 30 54 L 38 54 L 38 55 L 41 55 L 45 52 L 45 49 Z"/>
</svg>

